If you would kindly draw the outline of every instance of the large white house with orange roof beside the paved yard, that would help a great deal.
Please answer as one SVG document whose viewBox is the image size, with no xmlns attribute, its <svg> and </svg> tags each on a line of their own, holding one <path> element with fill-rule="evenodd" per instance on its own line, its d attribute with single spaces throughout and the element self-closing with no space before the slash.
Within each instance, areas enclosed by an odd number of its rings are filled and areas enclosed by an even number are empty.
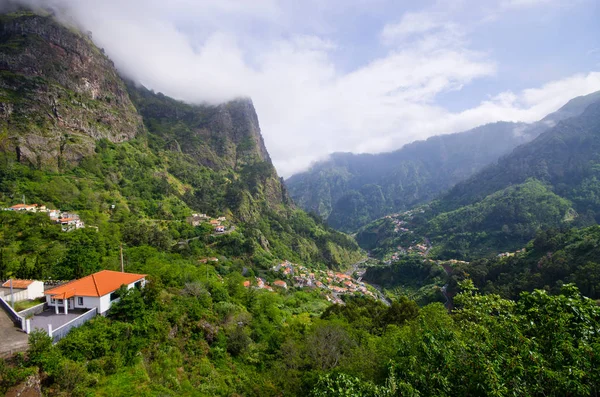
<svg viewBox="0 0 600 397">
<path fill-rule="evenodd" d="M 127 289 L 143 288 L 146 285 L 145 274 L 122 273 L 102 270 L 79 280 L 74 280 L 56 288 L 47 290 L 46 302 L 59 311 L 68 314 L 72 309 L 93 309 L 105 314 L 118 300 L 115 292 L 122 286 Z"/>
</svg>

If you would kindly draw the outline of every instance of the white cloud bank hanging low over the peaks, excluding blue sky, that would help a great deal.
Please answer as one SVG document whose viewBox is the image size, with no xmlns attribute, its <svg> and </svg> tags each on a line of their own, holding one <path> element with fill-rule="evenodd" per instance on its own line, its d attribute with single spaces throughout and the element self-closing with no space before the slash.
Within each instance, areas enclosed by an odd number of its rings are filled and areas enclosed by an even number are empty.
<svg viewBox="0 0 600 397">
<path fill-rule="evenodd" d="M 600 90 L 600 73 L 589 72 L 449 111 L 440 95 L 496 76 L 498 64 L 470 48 L 468 30 L 439 10 L 406 11 L 382 24 L 376 55 L 346 69 L 339 54 L 351 48 L 327 15 L 337 18 L 336 6 L 370 7 L 364 0 L 22 2 L 53 7 L 92 31 L 121 73 L 155 91 L 192 103 L 250 96 L 285 177 L 332 152 L 390 151 L 488 122 L 535 121 Z M 498 9 L 540 2 L 550 0 L 500 1 Z"/>
</svg>

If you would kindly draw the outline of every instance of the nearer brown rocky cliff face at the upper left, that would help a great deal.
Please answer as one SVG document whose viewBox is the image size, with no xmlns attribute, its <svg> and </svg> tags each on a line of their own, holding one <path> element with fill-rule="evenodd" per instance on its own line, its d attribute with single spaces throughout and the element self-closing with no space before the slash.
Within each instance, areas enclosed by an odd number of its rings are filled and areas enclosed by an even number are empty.
<svg viewBox="0 0 600 397">
<path fill-rule="evenodd" d="M 91 40 L 30 12 L 0 17 L 0 128 L 22 162 L 59 169 L 123 142 L 141 118 L 113 63 Z"/>
</svg>

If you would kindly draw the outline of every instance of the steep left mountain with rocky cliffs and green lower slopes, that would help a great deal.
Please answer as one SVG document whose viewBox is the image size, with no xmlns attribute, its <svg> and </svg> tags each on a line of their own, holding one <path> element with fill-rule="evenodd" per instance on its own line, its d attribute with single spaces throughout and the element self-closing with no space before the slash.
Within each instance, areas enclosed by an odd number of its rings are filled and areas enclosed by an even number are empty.
<svg viewBox="0 0 600 397">
<path fill-rule="evenodd" d="M 260 268 L 283 259 L 331 267 L 360 259 L 352 239 L 291 204 L 250 100 L 178 102 L 125 84 L 87 37 L 51 17 L 19 12 L 0 24 L 0 107 L 10 110 L 0 119 L 0 205 L 25 197 L 98 227 L 98 238 L 87 229 L 57 237 L 43 232 L 60 229 L 48 222 L 12 235 L 13 222 L 40 219 L 2 213 L 12 236 L 0 244 L 5 275 L 33 266 L 32 277 L 72 276 L 69 252 L 78 240 L 70 236 L 80 234 L 97 253 L 80 273 L 115 268 L 120 241 Z M 235 230 L 211 237 L 185 222 L 193 212 L 226 216 Z"/>
</svg>

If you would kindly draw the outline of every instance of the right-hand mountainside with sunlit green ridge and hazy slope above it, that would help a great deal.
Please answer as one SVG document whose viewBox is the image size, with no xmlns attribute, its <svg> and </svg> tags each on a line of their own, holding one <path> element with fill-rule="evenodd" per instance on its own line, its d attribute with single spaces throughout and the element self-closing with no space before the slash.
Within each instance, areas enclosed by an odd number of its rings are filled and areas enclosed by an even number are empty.
<svg viewBox="0 0 600 397">
<path fill-rule="evenodd" d="M 600 98 L 591 98 L 597 102 L 582 114 L 457 184 L 406 228 L 430 239 L 433 257 L 471 260 L 514 251 L 549 227 L 597 223 Z M 402 236 L 392 222 L 378 221 L 361 229 L 357 241 L 384 257 L 397 251 Z"/>
</svg>

